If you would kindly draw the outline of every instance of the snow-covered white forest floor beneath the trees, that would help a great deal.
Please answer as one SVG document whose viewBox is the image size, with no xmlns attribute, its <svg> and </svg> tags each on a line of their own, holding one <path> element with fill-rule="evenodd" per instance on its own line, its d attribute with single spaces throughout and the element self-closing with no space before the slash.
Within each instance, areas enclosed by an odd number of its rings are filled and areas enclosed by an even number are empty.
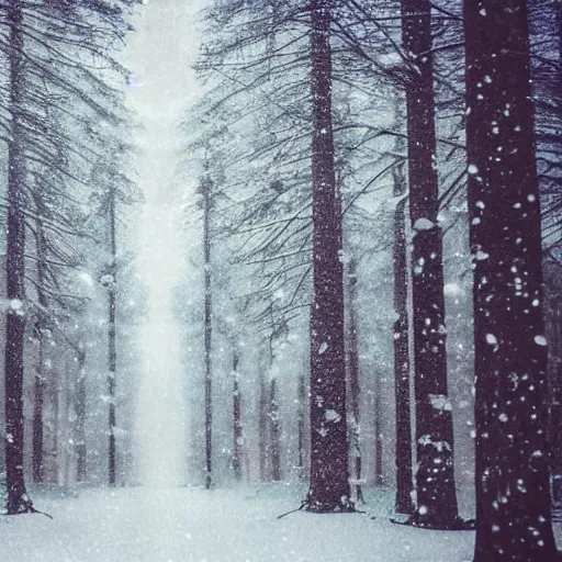
<svg viewBox="0 0 562 562">
<path fill-rule="evenodd" d="M 297 512 L 299 486 L 91 488 L 36 493 L 42 515 L 0 516 L 1 562 L 465 562 L 470 531 L 389 521 L 390 494 L 363 514 Z M 390 503 L 392 505 L 392 503 Z M 557 529 L 562 537 L 562 528 Z"/>
</svg>

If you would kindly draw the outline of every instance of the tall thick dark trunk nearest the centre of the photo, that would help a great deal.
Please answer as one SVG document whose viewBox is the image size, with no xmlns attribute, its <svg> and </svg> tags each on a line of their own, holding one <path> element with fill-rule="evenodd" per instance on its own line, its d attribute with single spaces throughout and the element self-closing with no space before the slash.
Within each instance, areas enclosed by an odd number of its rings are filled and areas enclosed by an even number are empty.
<svg viewBox="0 0 562 562">
<path fill-rule="evenodd" d="M 329 0 L 311 2 L 313 304 L 311 480 L 306 509 L 351 512 L 348 482 L 341 209 L 336 203 L 331 127 Z"/>
</svg>

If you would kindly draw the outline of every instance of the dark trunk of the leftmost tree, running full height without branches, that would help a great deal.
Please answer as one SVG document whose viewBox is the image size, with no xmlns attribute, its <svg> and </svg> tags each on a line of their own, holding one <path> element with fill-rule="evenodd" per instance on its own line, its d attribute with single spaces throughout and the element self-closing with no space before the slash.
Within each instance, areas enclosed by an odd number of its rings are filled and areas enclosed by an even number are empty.
<svg viewBox="0 0 562 562">
<path fill-rule="evenodd" d="M 8 144 L 8 223 L 7 223 L 7 297 L 5 318 L 5 472 L 7 512 L 10 515 L 33 510 L 23 475 L 23 349 L 25 336 L 23 220 L 25 154 L 23 146 L 23 34 L 22 5 L 11 0 L 7 8 L 10 25 L 10 99 L 11 138 Z"/>
</svg>

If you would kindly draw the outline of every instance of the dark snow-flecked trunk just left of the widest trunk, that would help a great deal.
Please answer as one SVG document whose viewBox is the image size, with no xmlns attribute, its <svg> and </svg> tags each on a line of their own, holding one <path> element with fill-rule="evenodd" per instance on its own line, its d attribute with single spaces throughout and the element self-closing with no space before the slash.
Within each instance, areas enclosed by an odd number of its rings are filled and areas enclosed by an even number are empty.
<svg viewBox="0 0 562 562">
<path fill-rule="evenodd" d="M 447 397 L 442 234 L 437 224 L 431 13 L 429 0 L 402 0 L 401 7 L 403 44 L 413 58 L 406 105 L 418 468 L 411 524 L 448 529 L 459 520 Z"/>
</svg>

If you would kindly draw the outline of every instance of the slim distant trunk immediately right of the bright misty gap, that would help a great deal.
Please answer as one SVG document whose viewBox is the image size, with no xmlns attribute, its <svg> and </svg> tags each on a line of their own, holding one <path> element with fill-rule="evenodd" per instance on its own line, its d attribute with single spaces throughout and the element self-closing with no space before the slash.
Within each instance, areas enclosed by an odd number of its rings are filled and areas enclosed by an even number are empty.
<svg viewBox="0 0 562 562">
<path fill-rule="evenodd" d="M 204 358 L 205 358 L 205 490 L 212 484 L 213 473 L 213 395 L 211 352 L 213 341 L 212 286 L 211 286 L 211 179 L 209 164 L 201 184 L 203 196 L 203 268 L 204 268 Z"/>
</svg>

